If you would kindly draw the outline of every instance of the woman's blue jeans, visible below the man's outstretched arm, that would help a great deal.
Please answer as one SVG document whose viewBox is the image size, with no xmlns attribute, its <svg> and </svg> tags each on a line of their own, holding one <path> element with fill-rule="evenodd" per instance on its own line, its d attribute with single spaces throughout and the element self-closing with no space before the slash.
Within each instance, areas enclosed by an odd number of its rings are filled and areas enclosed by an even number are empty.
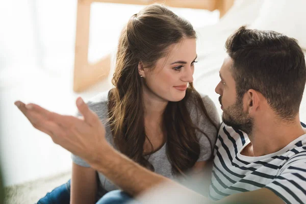
<svg viewBox="0 0 306 204">
<path fill-rule="evenodd" d="M 126 203 L 133 198 L 120 190 L 110 191 L 98 200 L 96 204 Z M 41 198 L 37 204 L 69 204 L 70 203 L 70 180 Z"/>
</svg>

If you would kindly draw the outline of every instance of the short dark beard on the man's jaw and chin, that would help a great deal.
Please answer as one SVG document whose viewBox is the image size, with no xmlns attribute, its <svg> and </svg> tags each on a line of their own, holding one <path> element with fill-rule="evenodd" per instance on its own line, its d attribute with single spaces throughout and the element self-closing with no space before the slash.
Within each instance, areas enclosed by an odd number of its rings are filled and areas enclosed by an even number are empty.
<svg viewBox="0 0 306 204">
<path fill-rule="evenodd" d="M 221 104 L 221 96 L 219 97 L 219 101 Z M 226 125 L 242 130 L 248 135 L 252 133 L 253 119 L 247 113 L 243 112 L 242 98 L 237 98 L 234 105 L 223 110 L 222 120 Z"/>
</svg>

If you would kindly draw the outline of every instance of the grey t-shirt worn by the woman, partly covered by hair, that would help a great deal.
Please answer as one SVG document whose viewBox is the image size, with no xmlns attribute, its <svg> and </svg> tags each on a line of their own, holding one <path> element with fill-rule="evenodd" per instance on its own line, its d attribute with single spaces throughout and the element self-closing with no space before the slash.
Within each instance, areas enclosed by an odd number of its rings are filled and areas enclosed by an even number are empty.
<svg viewBox="0 0 306 204">
<path fill-rule="evenodd" d="M 220 120 L 213 101 L 207 95 L 201 94 L 201 97 L 209 116 L 215 122 L 215 124 L 219 125 Z M 111 145 L 113 145 L 113 136 L 110 130 L 109 122 L 107 121 L 108 91 L 100 93 L 95 97 L 91 98 L 87 104 L 89 108 L 99 116 L 101 122 L 105 125 L 106 140 Z M 194 124 L 196 124 L 201 131 L 206 133 L 206 135 L 210 138 L 210 141 L 214 145 L 217 136 L 216 128 L 209 122 L 205 115 L 200 114 L 198 112 L 198 109 L 196 109 L 195 105 L 191 102 L 191 100 L 188 101 L 187 106 Z M 212 156 L 211 143 L 208 138 L 200 132 L 197 132 L 197 137 L 199 138 L 200 143 L 200 155 L 197 161 L 207 161 Z M 87 164 L 83 159 L 78 156 L 72 155 L 71 158 L 75 164 L 78 164 L 83 167 L 90 167 L 89 164 Z M 156 173 L 166 176 L 169 179 L 175 179 L 174 175 L 172 174 L 171 164 L 167 158 L 166 143 L 159 150 L 151 154 L 148 157 L 148 161 L 154 166 Z M 103 174 L 98 173 L 98 176 L 100 180 L 99 194 L 101 196 L 104 195 L 106 192 L 118 189 L 118 187 L 116 187 L 112 182 L 106 179 Z"/>
</svg>

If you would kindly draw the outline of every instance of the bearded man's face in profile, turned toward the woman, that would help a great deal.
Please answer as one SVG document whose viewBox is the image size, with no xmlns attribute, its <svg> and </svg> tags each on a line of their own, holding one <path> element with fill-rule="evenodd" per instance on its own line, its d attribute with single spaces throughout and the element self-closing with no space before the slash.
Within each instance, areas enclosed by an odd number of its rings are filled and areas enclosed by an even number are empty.
<svg viewBox="0 0 306 204">
<path fill-rule="evenodd" d="M 236 83 L 231 72 L 234 71 L 231 70 L 232 64 L 232 58 L 227 56 L 221 66 L 221 81 L 215 91 L 220 95 L 223 122 L 249 135 L 252 132 L 253 119 L 244 111 L 243 97 L 237 96 Z"/>
</svg>

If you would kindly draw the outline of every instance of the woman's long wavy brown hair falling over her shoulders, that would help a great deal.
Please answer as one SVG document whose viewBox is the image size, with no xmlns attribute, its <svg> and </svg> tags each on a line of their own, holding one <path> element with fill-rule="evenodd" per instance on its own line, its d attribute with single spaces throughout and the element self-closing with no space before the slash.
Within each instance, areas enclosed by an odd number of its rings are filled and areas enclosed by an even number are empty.
<svg viewBox="0 0 306 204">
<path fill-rule="evenodd" d="M 109 92 L 108 104 L 114 145 L 124 155 L 150 169 L 152 165 L 143 154 L 147 136 L 138 64 L 142 62 L 146 68 L 154 68 L 157 60 L 169 54 L 168 48 L 183 38 L 196 38 L 192 25 L 161 5 L 148 6 L 133 15 L 119 38 L 112 79 L 115 88 Z M 187 109 L 189 101 L 217 129 L 192 83 L 183 100 L 168 103 L 163 115 L 166 152 L 172 172 L 177 175 L 184 175 L 200 154 L 196 132 L 203 132 L 191 120 Z"/>
</svg>

